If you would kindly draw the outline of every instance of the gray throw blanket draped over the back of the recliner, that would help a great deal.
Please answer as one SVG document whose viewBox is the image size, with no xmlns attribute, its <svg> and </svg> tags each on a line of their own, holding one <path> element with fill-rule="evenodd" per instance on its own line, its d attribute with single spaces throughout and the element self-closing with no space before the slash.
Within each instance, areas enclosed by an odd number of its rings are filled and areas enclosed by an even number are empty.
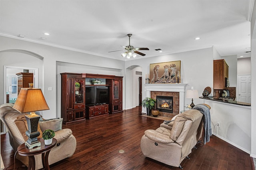
<svg viewBox="0 0 256 170">
<path fill-rule="evenodd" d="M 206 105 L 195 105 L 193 109 L 200 111 L 203 114 L 204 122 L 204 144 L 210 142 L 210 136 L 212 136 L 212 127 L 211 127 L 211 115 L 210 109 Z"/>
</svg>

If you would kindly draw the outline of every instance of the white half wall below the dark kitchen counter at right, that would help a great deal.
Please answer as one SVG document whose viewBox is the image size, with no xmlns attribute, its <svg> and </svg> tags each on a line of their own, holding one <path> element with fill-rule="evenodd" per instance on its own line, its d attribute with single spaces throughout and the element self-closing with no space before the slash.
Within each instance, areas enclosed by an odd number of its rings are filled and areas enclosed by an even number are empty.
<svg viewBox="0 0 256 170">
<path fill-rule="evenodd" d="M 201 100 L 211 106 L 212 133 L 250 154 L 251 107 Z M 220 127 L 214 128 L 217 123 Z"/>
</svg>

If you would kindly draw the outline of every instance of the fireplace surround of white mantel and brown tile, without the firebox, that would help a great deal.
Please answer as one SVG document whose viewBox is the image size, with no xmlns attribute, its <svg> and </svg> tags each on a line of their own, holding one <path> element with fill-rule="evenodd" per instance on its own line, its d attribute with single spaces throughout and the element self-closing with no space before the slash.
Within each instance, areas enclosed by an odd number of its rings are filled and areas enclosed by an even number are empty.
<svg viewBox="0 0 256 170">
<path fill-rule="evenodd" d="M 146 97 L 156 99 L 156 96 L 172 96 L 173 97 L 173 113 L 159 112 L 159 116 L 174 117 L 184 110 L 185 87 L 187 84 L 145 84 Z"/>
</svg>

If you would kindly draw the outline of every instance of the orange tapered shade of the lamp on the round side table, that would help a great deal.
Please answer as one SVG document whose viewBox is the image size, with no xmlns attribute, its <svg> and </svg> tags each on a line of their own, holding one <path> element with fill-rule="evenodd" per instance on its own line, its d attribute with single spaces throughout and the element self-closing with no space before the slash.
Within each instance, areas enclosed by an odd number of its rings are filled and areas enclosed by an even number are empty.
<svg viewBox="0 0 256 170">
<path fill-rule="evenodd" d="M 20 113 L 49 110 L 41 89 L 22 88 L 13 106 Z"/>
</svg>

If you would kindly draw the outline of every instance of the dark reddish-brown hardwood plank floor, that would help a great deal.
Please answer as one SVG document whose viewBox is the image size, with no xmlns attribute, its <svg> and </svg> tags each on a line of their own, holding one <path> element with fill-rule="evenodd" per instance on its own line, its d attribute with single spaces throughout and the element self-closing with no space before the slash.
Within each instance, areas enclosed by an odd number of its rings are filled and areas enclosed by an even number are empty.
<svg viewBox="0 0 256 170">
<path fill-rule="evenodd" d="M 62 128 L 72 129 L 77 140 L 76 151 L 72 157 L 51 165 L 51 170 L 179 170 L 142 154 L 140 139 L 144 131 L 158 128 L 163 121 L 141 117 L 140 113 L 141 108 L 136 107 L 124 113 L 63 125 Z M 124 153 L 119 153 L 120 150 Z M 13 168 L 14 153 L 8 134 L 1 135 L 1 154 L 4 166 Z M 181 163 L 184 170 L 252 170 L 249 154 L 213 135 L 206 145 L 193 149 L 189 157 Z M 19 166 L 19 161 L 16 164 Z"/>
</svg>

